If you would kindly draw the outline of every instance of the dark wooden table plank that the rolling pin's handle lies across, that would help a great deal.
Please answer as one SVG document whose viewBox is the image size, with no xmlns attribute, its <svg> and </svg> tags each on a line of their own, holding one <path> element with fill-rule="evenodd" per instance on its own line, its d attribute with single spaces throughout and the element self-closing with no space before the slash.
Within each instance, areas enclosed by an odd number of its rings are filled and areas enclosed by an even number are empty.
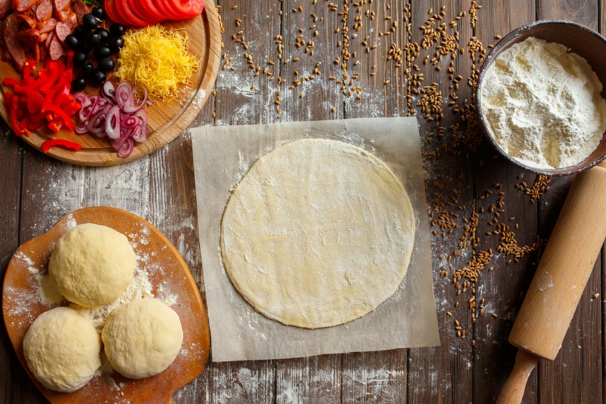
<svg viewBox="0 0 606 404">
<path fill-rule="evenodd" d="M 497 35 L 505 36 L 509 31 L 527 22 L 534 21 L 534 4 L 525 1 L 483 2 L 477 10 L 478 23 L 474 34 L 482 41 L 485 51 L 489 45 L 498 42 Z M 479 68 L 479 64 L 476 68 Z M 494 158 L 496 157 L 496 159 Z M 507 337 L 517 310 L 522 303 L 522 293 L 534 273 L 533 263 L 537 254 L 525 254 L 516 262 L 513 256 L 498 250 L 502 242 L 502 232 L 498 226 L 507 226 L 514 234 L 518 247 L 536 242 L 536 206 L 530 198 L 515 185 L 530 182 L 533 175 L 497 157 L 490 145 L 481 147 L 479 161 L 474 167 L 474 187 L 478 208 L 484 209 L 480 216 L 482 224 L 481 247 L 479 250 L 492 251 L 490 267 L 493 271 L 482 271 L 482 279 L 476 284 L 478 295 L 478 315 L 474 324 L 473 377 L 474 402 L 494 402 L 505 380 L 513 368 L 517 349 L 511 346 Z M 523 176 L 523 177 L 521 177 Z M 496 185 L 501 184 L 501 185 Z M 493 209 L 491 209 L 493 208 Z M 494 210 L 494 212 L 492 212 Z M 498 222 L 495 222 L 498 221 Z M 493 224 L 487 225 L 488 222 Z M 486 233 L 498 231 L 488 236 Z M 510 251 L 515 247 L 512 246 Z M 484 311 L 484 314 L 481 314 Z M 493 317 L 493 314 L 498 317 Z M 536 372 L 528 379 L 524 403 L 537 401 Z"/>
</svg>

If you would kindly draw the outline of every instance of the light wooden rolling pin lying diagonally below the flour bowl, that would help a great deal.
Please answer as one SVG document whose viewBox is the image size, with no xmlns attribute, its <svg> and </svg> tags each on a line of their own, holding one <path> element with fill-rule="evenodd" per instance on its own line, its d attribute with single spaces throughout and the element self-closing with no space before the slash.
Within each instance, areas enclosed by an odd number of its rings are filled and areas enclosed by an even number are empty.
<svg viewBox="0 0 606 404">
<path fill-rule="evenodd" d="M 578 174 L 511 329 L 519 348 L 497 404 L 519 404 L 539 358 L 553 360 L 606 238 L 606 161 Z"/>
</svg>

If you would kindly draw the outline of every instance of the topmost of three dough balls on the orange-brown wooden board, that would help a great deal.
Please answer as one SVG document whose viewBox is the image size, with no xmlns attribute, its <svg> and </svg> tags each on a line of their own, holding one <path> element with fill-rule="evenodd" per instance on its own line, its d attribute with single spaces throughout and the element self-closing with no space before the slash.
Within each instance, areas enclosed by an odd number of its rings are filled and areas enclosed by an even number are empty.
<svg viewBox="0 0 606 404">
<path fill-rule="evenodd" d="M 61 236 L 50 256 L 48 274 L 65 299 L 96 307 L 124 292 L 135 266 L 135 251 L 124 234 L 86 223 Z"/>
</svg>

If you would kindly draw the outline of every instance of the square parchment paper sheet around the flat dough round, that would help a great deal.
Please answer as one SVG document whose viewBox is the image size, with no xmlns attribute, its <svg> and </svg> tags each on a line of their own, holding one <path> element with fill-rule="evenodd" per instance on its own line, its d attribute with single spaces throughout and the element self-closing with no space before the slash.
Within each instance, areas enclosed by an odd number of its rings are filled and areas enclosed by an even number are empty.
<svg viewBox="0 0 606 404">
<path fill-rule="evenodd" d="M 198 230 L 214 362 L 281 359 L 439 345 L 424 171 L 415 118 L 342 119 L 191 130 Z M 235 290 L 221 262 L 221 218 L 231 188 L 261 156 L 305 137 L 340 140 L 382 159 L 408 191 L 415 247 L 396 293 L 376 310 L 330 328 L 267 319 Z"/>
</svg>

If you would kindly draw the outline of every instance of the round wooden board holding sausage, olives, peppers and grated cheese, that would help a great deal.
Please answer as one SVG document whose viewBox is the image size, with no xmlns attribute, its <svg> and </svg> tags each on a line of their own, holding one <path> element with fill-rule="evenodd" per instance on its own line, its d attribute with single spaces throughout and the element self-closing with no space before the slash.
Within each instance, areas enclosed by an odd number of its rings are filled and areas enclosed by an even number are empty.
<svg viewBox="0 0 606 404">
<path fill-rule="evenodd" d="M 69 151 L 53 147 L 48 155 L 56 159 L 79 165 L 116 165 L 133 161 L 164 147 L 179 136 L 198 116 L 215 85 L 219 70 L 221 52 L 221 28 L 215 5 L 207 0 L 201 15 L 185 21 L 166 21 L 167 28 L 183 29 L 190 39 L 188 50 L 199 60 L 199 69 L 191 84 L 181 86 L 182 96 L 171 102 L 158 101 L 147 106 L 147 141 L 135 143 L 133 153 L 125 158 L 118 157 L 116 151 L 106 139 L 83 134 L 79 135 L 63 128 L 52 133 L 46 127 L 33 132 L 31 136 L 22 136 L 24 141 L 42 151 L 42 142 L 50 138 L 67 139 L 82 145 L 79 151 Z M 21 80 L 21 73 L 15 70 L 11 62 L 0 62 L 0 78 L 11 77 Z M 10 126 L 8 111 L 4 105 L 4 83 L 0 81 L 0 115 Z M 12 93 L 12 89 L 8 88 Z M 87 89 L 88 94 L 99 94 L 97 88 Z"/>
</svg>

